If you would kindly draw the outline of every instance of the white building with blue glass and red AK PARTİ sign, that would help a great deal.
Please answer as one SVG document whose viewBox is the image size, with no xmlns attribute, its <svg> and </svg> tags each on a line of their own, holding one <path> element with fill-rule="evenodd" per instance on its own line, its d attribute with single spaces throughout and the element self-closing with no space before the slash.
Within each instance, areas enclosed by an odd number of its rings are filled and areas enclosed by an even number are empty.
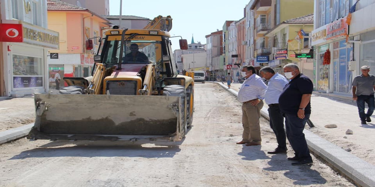
<svg viewBox="0 0 375 187">
<path fill-rule="evenodd" d="M 375 0 L 314 0 L 314 7 L 315 90 L 351 96 L 360 67 L 375 69 Z"/>
</svg>

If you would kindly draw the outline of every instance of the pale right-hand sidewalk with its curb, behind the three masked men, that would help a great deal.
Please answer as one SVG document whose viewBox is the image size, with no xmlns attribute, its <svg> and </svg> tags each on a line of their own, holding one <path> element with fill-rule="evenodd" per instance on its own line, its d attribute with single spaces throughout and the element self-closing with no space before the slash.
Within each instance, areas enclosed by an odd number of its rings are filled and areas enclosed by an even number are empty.
<svg viewBox="0 0 375 187">
<path fill-rule="evenodd" d="M 216 82 L 217 83 L 217 82 Z M 240 83 L 218 83 L 237 96 Z M 262 116 L 269 119 L 268 106 L 264 104 Z M 310 150 L 326 160 L 342 174 L 351 178 L 360 186 L 375 186 L 375 118 L 374 123 L 361 125 L 356 102 L 313 94 L 311 97 L 311 121 L 314 128 L 305 129 L 304 134 Z M 374 117 L 374 115 L 372 116 Z M 324 125 L 336 124 L 338 128 L 325 128 Z M 353 131 L 347 135 L 347 129 Z M 351 152 L 344 149 L 351 148 Z"/>
</svg>

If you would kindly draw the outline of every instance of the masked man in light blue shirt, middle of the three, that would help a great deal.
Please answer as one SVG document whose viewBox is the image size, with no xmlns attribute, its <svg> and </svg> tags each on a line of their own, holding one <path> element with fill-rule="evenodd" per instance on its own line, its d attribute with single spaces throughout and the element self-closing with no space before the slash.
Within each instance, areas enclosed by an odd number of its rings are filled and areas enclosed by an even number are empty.
<svg viewBox="0 0 375 187">
<path fill-rule="evenodd" d="M 278 147 L 274 151 L 268 151 L 268 154 L 287 153 L 287 138 L 284 131 L 284 117 L 279 108 L 279 96 L 285 85 L 289 82 L 281 74 L 275 73 L 269 66 L 260 69 L 262 77 L 268 80 L 264 101 L 268 105 L 268 114 L 270 116 L 270 127 L 276 135 Z"/>
</svg>

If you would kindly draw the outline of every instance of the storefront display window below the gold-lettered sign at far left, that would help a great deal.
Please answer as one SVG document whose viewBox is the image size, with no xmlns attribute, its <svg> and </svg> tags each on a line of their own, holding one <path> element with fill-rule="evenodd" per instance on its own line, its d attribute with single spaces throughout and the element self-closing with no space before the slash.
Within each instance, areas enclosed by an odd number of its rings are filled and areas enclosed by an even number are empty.
<svg viewBox="0 0 375 187">
<path fill-rule="evenodd" d="M 13 88 L 43 86 L 42 58 L 13 55 Z"/>
</svg>

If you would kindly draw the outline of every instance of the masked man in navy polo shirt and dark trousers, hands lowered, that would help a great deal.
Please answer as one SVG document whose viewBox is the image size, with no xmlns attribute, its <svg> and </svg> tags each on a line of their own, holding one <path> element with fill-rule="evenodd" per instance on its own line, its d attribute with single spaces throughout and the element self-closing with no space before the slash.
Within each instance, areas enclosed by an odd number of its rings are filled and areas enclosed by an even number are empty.
<svg viewBox="0 0 375 187">
<path fill-rule="evenodd" d="M 288 158 L 294 166 L 312 163 L 303 129 L 311 114 L 310 98 L 313 85 L 309 77 L 300 73 L 296 64 L 284 66 L 284 74 L 291 81 L 284 87 L 279 97 L 279 107 L 285 117 L 287 138 L 294 150 L 294 157 Z"/>
</svg>

